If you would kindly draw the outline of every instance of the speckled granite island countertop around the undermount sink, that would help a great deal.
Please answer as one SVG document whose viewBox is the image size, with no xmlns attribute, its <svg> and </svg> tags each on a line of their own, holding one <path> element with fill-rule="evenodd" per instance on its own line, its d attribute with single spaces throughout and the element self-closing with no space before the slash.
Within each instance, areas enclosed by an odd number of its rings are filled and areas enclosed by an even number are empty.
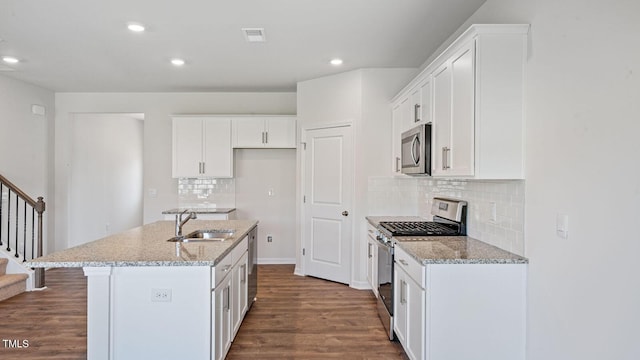
<svg viewBox="0 0 640 360">
<path fill-rule="evenodd" d="M 190 220 L 182 232 L 234 229 L 222 242 L 176 243 L 173 221 L 157 221 L 26 263 L 30 267 L 215 266 L 258 224 L 255 220 Z"/>
</svg>

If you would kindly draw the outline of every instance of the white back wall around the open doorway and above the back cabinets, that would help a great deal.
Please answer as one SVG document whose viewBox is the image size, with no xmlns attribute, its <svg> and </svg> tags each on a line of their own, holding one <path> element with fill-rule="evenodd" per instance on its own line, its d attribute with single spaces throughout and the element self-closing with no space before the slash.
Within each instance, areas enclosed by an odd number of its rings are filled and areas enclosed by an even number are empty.
<svg viewBox="0 0 640 360">
<path fill-rule="evenodd" d="M 171 114 L 295 114 L 295 93 L 56 93 L 55 249 L 68 247 L 70 131 L 74 113 L 143 113 L 144 223 L 178 204 L 171 178 Z M 157 191 L 156 197 L 149 190 Z"/>
</svg>

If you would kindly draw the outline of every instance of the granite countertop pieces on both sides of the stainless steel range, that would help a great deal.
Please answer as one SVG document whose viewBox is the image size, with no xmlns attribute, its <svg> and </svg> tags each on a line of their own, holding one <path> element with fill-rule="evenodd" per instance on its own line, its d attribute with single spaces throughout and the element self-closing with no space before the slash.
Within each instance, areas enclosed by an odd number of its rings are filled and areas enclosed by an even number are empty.
<svg viewBox="0 0 640 360">
<path fill-rule="evenodd" d="M 378 227 L 381 221 L 429 221 L 416 216 L 368 216 Z M 528 264 L 525 257 L 469 236 L 394 236 L 399 246 L 418 262 L 427 264 Z"/>
</svg>

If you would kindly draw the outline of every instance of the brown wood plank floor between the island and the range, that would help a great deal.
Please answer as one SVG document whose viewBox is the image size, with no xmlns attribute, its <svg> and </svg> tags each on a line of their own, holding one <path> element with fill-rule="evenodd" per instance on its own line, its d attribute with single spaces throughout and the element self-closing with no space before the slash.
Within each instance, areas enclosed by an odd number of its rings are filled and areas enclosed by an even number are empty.
<svg viewBox="0 0 640 360">
<path fill-rule="evenodd" d="M 227 360 L 406 359 L 391 342 L 370 291 L 293 275 L 293 265 L 261 265 L 258 301 Z"/>
</svg>

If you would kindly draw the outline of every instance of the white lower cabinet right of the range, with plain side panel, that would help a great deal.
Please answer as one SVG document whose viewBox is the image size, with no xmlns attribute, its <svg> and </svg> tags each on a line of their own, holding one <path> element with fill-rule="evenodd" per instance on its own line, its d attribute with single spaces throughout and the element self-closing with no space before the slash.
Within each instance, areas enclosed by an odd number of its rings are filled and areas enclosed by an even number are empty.
<svg viewBox="0 0 640 360">
<path fill-rule="evenodd" d="M 394 250 L 394 330 L 410 359 L 525 359 L 526 264 L 423 265 Z"/>
</svg>

